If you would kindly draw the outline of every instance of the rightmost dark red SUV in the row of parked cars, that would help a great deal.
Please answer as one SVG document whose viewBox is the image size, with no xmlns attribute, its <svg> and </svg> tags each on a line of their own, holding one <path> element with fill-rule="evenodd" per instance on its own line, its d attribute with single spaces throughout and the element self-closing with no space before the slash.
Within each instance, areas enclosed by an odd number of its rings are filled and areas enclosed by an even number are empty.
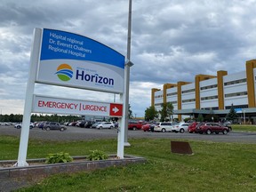
<svg viewBox="0 0 256 192">
<path fill-rule="evenodd" d="M 216 134 L 219 134 L 220 132 L 227 134 L 229 129 L 226 126 L 217 123 L 201 123 L 196 125 L 196 132 L 201 134 L 211 134 L 212 132 L 215 132 Z"/>
</svg>

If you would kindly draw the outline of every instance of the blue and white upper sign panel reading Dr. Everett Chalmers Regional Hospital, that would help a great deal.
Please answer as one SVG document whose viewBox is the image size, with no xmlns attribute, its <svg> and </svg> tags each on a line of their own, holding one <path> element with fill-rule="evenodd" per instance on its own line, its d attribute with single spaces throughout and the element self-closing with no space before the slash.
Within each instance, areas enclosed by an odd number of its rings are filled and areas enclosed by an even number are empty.
<svg viewBox="0 0 256 192">
<path fill-rule="evenodd" d="M 123 93 L 124 59 L 86 36 L 44 28 L 36 82 Z"/>
</svg>

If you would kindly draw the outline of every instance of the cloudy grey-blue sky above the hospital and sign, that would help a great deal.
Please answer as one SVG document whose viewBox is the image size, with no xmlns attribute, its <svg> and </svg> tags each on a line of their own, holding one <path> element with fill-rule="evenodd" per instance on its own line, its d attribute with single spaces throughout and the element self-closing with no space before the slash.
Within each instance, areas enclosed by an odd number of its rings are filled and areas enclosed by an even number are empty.
<svg viewBox="0 0 256 192">
<path fill-rule="evenodd" d="M 127 54 L 128 0 L 0 0 L 0 110 L 23 114 L 34 28 L 90 37 Z M 151 89 L 198 74 L 245 70 L 256 58 L 256 0 L 132 0 L 129 103 L 144 116 Z M 112 102 L 119 95 L 36 84 L 35 93 Z"/>
</svg>

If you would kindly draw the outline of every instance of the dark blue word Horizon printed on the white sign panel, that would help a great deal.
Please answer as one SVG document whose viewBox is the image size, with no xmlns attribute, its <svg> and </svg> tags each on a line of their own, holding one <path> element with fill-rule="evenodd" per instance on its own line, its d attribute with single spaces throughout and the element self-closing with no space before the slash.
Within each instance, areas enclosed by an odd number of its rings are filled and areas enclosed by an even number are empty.
<svg viewBox="0 0 256 192">
<path fill-rule="evenodd" d="M 108 78 L 106 76 L 99 76 L 99 74 L 86 74 L 84 70 L 76 69 L 76 80 L 82 80 L 87 82 L 94 82 L 96 84 L 108 84 L 108 85 L 114 85 L 115 81 L 113 78 Z"/>
</svg>

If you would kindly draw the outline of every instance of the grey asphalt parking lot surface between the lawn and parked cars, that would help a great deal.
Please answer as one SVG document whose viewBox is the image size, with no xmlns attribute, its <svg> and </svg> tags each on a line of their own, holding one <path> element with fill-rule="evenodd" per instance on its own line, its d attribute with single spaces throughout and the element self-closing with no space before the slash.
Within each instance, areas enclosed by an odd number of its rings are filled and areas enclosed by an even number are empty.
<svg viewBox="0 0 256 192">
<path fill-rule="evenodd" d="M 0 135 L 20 136 L 21 129 L 14 126 L 0 126 Z M 175 132 L 142 132 L 128 131 L 129 139 L 133 138 L 152 138 L 152 139 L 182 139 L 182 140 L 210 140 L 214 142 L 241 142 L 256 143 L 256 132 L 228 132 L 227 135 L 220 134 L 196 134 L 196 133 L 175 133 Z M 29 139 L 39 140 L 100 140 L 100 139 L 117 139 L 116 129 L 89 129 L 68 126 L 65 132 L 60 131 L 43 131 L 39 128 L 33 128 L 29 131 Z"/>
</svg>

